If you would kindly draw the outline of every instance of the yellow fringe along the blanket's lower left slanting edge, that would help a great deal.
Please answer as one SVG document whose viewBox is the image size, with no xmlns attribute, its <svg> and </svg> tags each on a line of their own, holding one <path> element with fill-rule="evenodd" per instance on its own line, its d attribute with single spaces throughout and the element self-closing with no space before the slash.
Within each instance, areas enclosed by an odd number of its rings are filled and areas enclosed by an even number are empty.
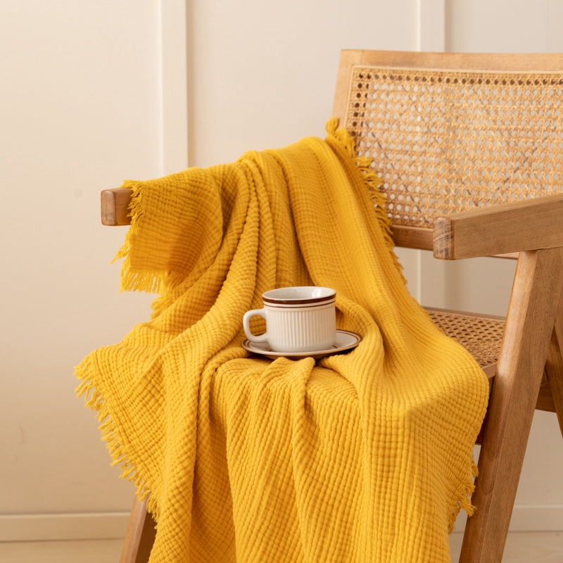
<svg viewBox="0 0 563 563">
<path fill-rule="evenodd" d="M 112 460 L 111 466 L 119 467 L 121 469 L 120 478 L 134 484 L 137 498 L 141 501 L 147 500 L 148 512 L 158 521 L 158 505 L 156 500 L 150 496 L 151 491 L 148 489 L 144 479 L 137 473 L 134 464 L 128 461 L 122 445 L 122 439 L 111 420 L 103 396 L 91 379 L 89 379 L 88 374 L 90 372 L 91 370 L 82 364 L 75 367 L 75 377 L 80 380 L 79 386 L 75 389 L 75 394 L 78 398 L 84 396 L 84 404 L 96 413 L 96 419 L 100 423 L 101 439 L 106 442 L 106 447 Z"/>
</svg>

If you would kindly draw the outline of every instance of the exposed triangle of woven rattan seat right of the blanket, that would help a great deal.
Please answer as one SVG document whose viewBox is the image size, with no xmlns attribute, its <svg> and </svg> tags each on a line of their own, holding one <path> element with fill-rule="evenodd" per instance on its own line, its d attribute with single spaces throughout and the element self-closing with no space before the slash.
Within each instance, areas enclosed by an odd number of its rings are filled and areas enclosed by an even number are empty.
<svg viewBox="0 0 563 563">
<path fill-rule="evenodd" d="M 488 377 L 493 377 L 505 320 L 470 313 L 427 308 L 431 319 L 445 334 L 456 339 L 476 360 Z"/>
</svg>

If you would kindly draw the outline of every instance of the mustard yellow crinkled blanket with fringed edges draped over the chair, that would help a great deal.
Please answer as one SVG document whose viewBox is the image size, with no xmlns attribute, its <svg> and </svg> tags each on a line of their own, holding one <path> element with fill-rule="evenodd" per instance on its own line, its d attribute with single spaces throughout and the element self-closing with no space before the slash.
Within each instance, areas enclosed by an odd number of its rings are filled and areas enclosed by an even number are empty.
<svg viewBox="0 0 563 563">
<path fill-rule="evenodd" d="M 472 510 L 486 377 L 407 293 L 377 179 L 327 130 L 125 184 L 122 286 L 160 296 L 76 374 L 115 464 L 150 495 L 152 563 L 448 562 Z M 360 345 L 251 357 L 243 313 L 291 285 L 336 289 Z"/>
</svg>

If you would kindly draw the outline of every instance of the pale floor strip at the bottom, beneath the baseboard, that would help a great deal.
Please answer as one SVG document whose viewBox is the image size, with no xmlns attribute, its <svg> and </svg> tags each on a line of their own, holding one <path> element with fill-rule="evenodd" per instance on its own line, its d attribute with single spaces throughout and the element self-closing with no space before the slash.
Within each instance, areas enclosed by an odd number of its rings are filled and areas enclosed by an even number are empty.
<svg viewBox="0 0 563 563">
<path fill-rule="evenodd" d="M 462 534 L 454 533 L 452 561 L 459 557 Z M 2 563 L 118 563 L 122 540 L 0 543 Z M 519 532 L 508 536 L 503 563 L 562 563 L 563 532 Z"/>
</svg>

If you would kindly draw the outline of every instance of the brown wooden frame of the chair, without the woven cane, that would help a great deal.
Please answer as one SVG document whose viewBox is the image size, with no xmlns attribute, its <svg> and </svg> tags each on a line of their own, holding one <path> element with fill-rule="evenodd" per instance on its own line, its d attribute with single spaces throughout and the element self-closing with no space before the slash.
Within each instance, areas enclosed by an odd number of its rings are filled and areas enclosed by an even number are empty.
<svg viewBox="0 0 563 563">
<path fill-rule="evenodd" d="M 373 75 L 414 71 L 416 80 L 422 82 L 426 81 L 426 72 L 438 72 L 438 81 L 450 80 L 449 75 L 440 75 L 441 72 L 485 72 L 486 80 L 490 77 L 493 81 L 507 73 L 520 77 L 516 81 L 523 80 L 524 73 L 532 84 L 535 76 L 547 75 L 559 97 L 563 84 L 563 55 L 342 51 L 334 116 L 351 134 L 358 135 L 358 141 L 364 133 L 358 133 L 355 127 L 369 121 L 368 106 L 365 101 L 356 102 L 354 96 L 360 99 L 372 95 L 353 92 L 353 71 L 359 67 L 372 68 Z M 403 74 L 400 77 L 402 80 Z M 365 88 L 365 84 L 360 86 Z M 552 90 L 548 88 L 546 96 L 553 95 Z M 559 127 L 560 136 L 555 152 L 563 153 L 563 115 L 559 113 L 563 114 L 563 103 L 554 112 L 554 127 Z M 499 126 L 499 132 L 502 127 Z M 367 144 L 381 145 L 377 125 L 369 125 L 368 129 Z M 374 167 L 379 171 L 377 163 Z M 491 398 L 480 434 L 479 477 L 472 498 L 477 510 L 467 521 L 461 563 L 502 559 L 536 408 L 556 412 L 563 431 L 563 303 L 559 305 L 563 290 L 562 188 L 563 179 L 547 196 L 538 192 L 514 201 L 509 194 L 493 205 L 485 203 L 472 209 L 467 204 L 460 205 L 453 214 L 422 217 L 415 225 L 395 221 L 400 213 L 391 216 L 397 246 L 432 250 L 436 258 L 446 260 L 491 255 L 512 255 L 518 260 L 498 361 L 483 365 L 491 380 Z M 391 188 L 384 184 L 384 189 Z M 398 197 L 417 199 L 412 192 L 405 195 L 404 191 Z M 103 224 L 129 224 L 129 198 L 127 190 L 103 191 Z M 146 562 L 154 533 L 154 523 L 144 503 L 136 501 L 122 563 Z"/>
</svg>

